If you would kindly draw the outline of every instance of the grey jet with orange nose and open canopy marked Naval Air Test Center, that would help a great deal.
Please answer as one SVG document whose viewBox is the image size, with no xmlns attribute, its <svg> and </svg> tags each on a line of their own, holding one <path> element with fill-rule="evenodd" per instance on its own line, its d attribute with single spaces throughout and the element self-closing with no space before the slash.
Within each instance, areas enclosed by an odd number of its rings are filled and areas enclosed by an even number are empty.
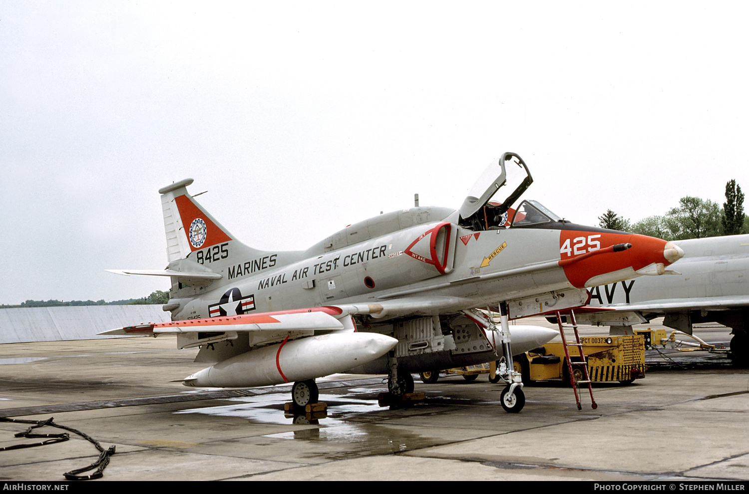
<svg viewBox="0 0 749 494">
<path fill-rule="evenodd" d="M 240 243 L 188 194 L 192 179 L 172 183 L 159 191 L 166 270 L 115 272 L 171 277 L 173 322 L 101 334 L 176 335 L 179 348 L 200 347 L 196 362 L 214 362 L 185 385 L 294 382 L 297 406 L 314 403 L 315 378 L 331 373 L 387 373 L 397 395 L 413 391 L 412 372 L 496 360 L 503 408 L 519 412 L 512 355 L 558 332 L 509 319 L 585 305 L 586 287 L 662 274 L 683 255 L 664 240 L 574 225 L 536 201 L 511 209 L 532 182 L 505 153 L 459 210 L 380 214 L 306 251 Z"/>
</svg>

